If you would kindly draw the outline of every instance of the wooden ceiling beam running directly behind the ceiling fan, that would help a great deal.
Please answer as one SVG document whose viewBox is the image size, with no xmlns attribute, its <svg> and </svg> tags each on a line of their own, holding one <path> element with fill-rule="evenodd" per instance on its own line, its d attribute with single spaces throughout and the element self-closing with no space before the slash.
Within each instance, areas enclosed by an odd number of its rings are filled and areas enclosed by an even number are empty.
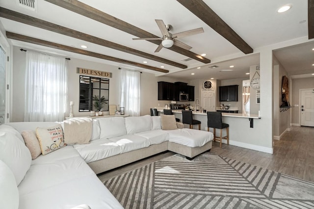
<svg viewBox="0 0 314 209">
<path fill-rule="evenodd" d="M 127 22 L 124 22 L 118 18 L 115 18 L 111 15 L 106 14 L 105 12 L 102 12 L 96 8 L 93 8 L 87 4 L 84 4 L 78 0 L 46 0 L 50 3 L 53 3 L 55 5 L 58 5 L 60 7 L 63 7 L 65 9 L 68 9 L 72 12 L 78 13 L 80 15 L 83 15 L 85 17 L 88 17 L 90 19 L 93 19 L 95 21 L 101 22 L 105 25 L 112 26 L 114 28 L 117 28 L 119 30 L 122 30 L 124 32 L 130 33 L 136 37 L 139 38 L 157 38 L 158 36 L 149 33 L 141 28 L 138 28 L 136 26 L 133 26 Z M 153 23 L 152 23 L 153 24 Z M 149 42 L 152 42 L 154 44 L 159 45 L 161 43 L 160 40 L 147 40 Z M 184 54 L 185 56 L 188 56 L 192 59 L 198 60 L 203 63 L 210 63 L 210 60 L 202 57 L 199 54 L 196 54 L 194 52 L 182 49 L 178 46 L 173 46 L 171 48 L 168 48 L 169 50 L 172 50 L 174 52 L 178 52 L 181 54 Z"/>
</svg>

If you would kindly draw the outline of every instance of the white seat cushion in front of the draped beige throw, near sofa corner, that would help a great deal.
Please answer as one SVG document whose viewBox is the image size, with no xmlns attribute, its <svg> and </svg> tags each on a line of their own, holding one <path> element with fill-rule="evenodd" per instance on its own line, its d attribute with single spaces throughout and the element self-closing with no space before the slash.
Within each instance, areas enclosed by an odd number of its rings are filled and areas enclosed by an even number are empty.
<svg viewBox="0 0 314 209">
<path fill-rule="evenodd" d="M 121 146 L 106 138 L 91 141 L 86 145 L 75 144 L 73 147 L 87 163 L 122 153 Z"/>
</svg>

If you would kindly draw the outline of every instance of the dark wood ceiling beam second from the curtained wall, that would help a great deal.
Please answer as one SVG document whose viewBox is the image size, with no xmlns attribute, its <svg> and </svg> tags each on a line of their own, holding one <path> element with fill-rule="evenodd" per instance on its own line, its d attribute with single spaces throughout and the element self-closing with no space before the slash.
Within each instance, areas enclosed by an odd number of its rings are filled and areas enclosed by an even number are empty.
<svg viewBox="0 0 314 209">
<path fill-rule="evenodd" d="M 172 66 L 179 67 L 182 69 L 187 68 L 186 65 L 183 65 L 183 64 L 180 64 L 177 62 L 173 62 L 173 61 L 168 60 L 168 59 L 164 59 L 164 58 L 161 58 L 161 57 L 149 54 L 149 53 L 145 53 L 145 52 L 141 52 L 141 51 L 138 51 L 135 49 L 131 49 L 129 47 L 126 47 L 126 46 L 123 46 L 120 44 L 116 44 L 116 43 L 113 43 L 113 42 L 110 42 L 110 41 L 107 41 L 107 40 L 104 40 L 104 39 L 101 39 L 101 38 L 98 38 L 98 37 L 95 37 L 92 35 L 88 35 L 86 33 L 82 33 L 82 32 L 67 28 L 67 27 L 59 26 L 59 25 L 56 25 L 56 24 L 53 24 L 53 23 L 50 23 L 50 22 L 47 22 L 44 20 L 40 20 L 38 18 L 24 15 L 24 14 L 21 14 L 21 13 L 18 13 L 18 12 L 15 12 L 15 11 L 12 11 L 12 10 L 9 10 L 6 8 L 0 7 L 0 17 L 6 18 L 9 20 L 13 20 L 13 21 L 17 21 L 20 23 L 24 23 L 24 24 L 27 24 L 30 26 L 35 26 L 35 27 L 39 27 L 42 29 L 50 30 L 52 32 L 67 35 L 67 36 L 70 36 L 73 38 L 77 38 L 80 40 L 84 40 L 87 42 L 98 44 L 98 45 L 108 47 L 111 49 L 119 50 L 119 51 L 126 52 L 126 53 L 131 53 L 131 54 L 134 54 L 137 56 L 141 56 L 141 57 L 144 57 L 147 59 L 151 59 L 151 60 L 154 60 L 157 62 L 172 65 Z"/>
</svg>

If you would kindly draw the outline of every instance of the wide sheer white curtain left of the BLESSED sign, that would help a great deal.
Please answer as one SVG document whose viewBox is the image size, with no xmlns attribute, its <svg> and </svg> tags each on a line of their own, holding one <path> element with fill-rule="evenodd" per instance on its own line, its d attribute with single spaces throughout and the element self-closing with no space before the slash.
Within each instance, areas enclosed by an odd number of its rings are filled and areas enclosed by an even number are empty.
<svg viewBox="0 0 314 209">
<path fill-rule="evenodd" d="M 68 63 L 64 57 L 26 52 L 24 121 L 63 121 Z"/>
</svg>

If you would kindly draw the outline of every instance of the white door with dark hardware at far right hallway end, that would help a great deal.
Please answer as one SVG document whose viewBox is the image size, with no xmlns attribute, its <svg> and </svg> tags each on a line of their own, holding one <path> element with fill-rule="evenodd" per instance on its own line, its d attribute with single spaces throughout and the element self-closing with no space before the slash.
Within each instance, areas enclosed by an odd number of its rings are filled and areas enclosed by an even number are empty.
<svg viewBox="0 0 314 209">
<path fill-rule="evenodd" d="M 314 89 L 301 90 L 301 126 L 314 127 Z"/>
</svg>

